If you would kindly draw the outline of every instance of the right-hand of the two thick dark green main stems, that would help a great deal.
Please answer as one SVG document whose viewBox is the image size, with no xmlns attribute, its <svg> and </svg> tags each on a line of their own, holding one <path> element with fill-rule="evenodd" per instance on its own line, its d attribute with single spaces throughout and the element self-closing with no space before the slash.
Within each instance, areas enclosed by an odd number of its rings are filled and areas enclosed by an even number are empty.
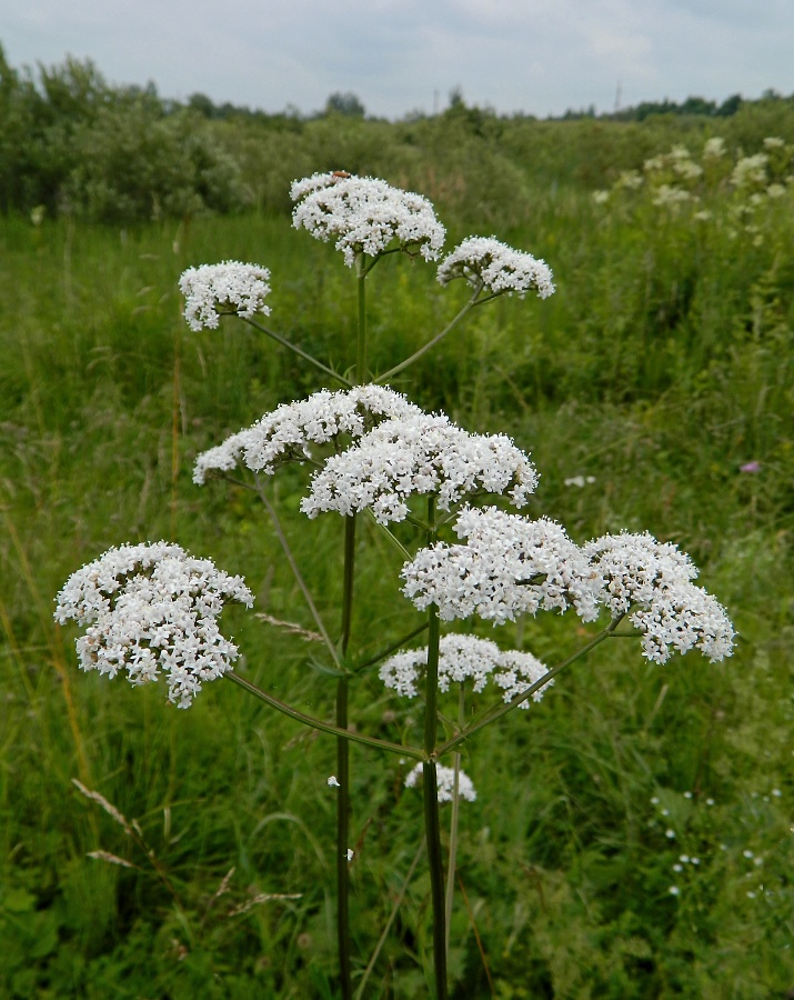
<svg viewBox="0 0 794 1000">
<path fill-rule="evenodd" d="M 436 540 L 435 498 L 428 499 L 428 544 Z M 435 750 L 439 727 L 439 646 L 441 629 L 439 609 L 431 604 L 428 609 L 428 670 L 424 692 L 424 752 L 430 757 Z M 435 760 L 422 764 L 422 790 L 424 793 L 424 832 L 428 841 L 428 867 L 430 869 L 430 897 L 433 910 L 433 969 L 435 972 L 435 998 L 446 1000 L 446 931 L 444 921 L 444 866 L 441 858 L 441 823 L 439 819 L 439 783 Z"/>
</svg>

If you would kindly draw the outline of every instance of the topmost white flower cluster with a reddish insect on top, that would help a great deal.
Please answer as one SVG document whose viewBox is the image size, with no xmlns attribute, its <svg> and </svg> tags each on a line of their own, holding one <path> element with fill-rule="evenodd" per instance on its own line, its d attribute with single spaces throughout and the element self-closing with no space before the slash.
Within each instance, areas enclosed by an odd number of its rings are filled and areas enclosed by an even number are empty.
<svg viewBox="0 0 794 1000">
<path fill-rule="evenodd" d="M 324 242 L 333 239 L 348 267 L 356 253 L 378 257 L 396 248 L 435 260 L 444 244 L 445 230 L 430 201 L 383 180 L 344 171 L 315 173 L 294 181 L 290 197 L 298 202 L 295 229 L 303 227 Z"/>
</svg>

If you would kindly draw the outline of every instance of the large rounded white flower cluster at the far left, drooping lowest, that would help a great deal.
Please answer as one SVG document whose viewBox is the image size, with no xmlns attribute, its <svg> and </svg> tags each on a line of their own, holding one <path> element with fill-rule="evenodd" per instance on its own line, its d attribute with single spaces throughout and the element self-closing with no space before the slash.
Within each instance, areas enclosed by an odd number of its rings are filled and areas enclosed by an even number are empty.
<svg viewBox="0 0 794 1000">
<path fill-rule="evenodd" d="M 77 640 L 80 667 L 132 684 L 168 677 L 169 700 L 189 708 L 201 682 L 231 670 L 238 648 L 215 619 L 224 600 L 248 607 L 242 577 L 168 542 L 121 546 L 78 570 L 57 598 L 56 620 L 88 626 Z"/>
</svg>

